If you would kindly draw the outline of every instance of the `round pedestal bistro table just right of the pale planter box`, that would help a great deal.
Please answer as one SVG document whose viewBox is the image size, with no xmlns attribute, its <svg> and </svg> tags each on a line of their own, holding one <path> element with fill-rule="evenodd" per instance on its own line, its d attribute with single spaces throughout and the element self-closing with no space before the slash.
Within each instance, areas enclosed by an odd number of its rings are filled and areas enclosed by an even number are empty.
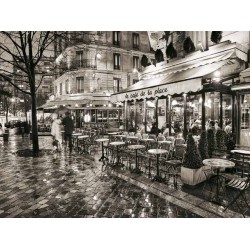
<svg viewBox="0 0 250 250">
<path fill-rule="evenodd" d="M 229 160 L 220 159 L 220 158 L 210 158 L 203 160 L 203 164 L 210 166 L 211 168 L 216 169 L 216 194 L 213 197 L 212 201 L 216 204 L 221 204 L 219 197 L 219 185 L 220 185 L 220 169 L 233 168 L 235 163 Z"/>
</svg>

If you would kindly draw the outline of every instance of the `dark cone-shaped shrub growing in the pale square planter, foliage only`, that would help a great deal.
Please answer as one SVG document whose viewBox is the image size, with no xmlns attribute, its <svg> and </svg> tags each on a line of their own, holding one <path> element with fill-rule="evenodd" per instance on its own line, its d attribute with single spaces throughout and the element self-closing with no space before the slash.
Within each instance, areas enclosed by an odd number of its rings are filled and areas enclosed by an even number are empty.
<svg viewBox="0 0 250 250">
<path fill-rule="evenodd" d="M 194 141 L 193 135 L 189 133 L 187 138 L 187 149 L 184 155 L 183 166 L 186 168 L 197 169 L 200 168 L 201 165 L 201 156 Z"/>
</svg>

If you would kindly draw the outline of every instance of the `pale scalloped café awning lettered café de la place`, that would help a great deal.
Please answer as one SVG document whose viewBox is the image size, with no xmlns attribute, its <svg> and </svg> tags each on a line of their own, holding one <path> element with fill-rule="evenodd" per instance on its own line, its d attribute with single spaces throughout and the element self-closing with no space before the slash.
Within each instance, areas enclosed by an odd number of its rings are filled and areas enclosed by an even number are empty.
<svg viewBox="0 0 250 250">
<path fill-rule="evenodd" d="M 149 72 L 136 84 L 111 95 L 111 102 L 199 92 L 203 89 L 202 79 L 211 77 L 217 70 L 224 74 L 239 73 L 241 64 L 242 59 L 237 56 L 235 49 L 231 48 L 199 60 L 186 61 L 186 63 L 183 63 L 183 59 L 176 60 L 174 66 L 164 65 L 166 70 L 161 73 Z M 230 70 L 227 70 L 227 67 Z"/>
</svg>

